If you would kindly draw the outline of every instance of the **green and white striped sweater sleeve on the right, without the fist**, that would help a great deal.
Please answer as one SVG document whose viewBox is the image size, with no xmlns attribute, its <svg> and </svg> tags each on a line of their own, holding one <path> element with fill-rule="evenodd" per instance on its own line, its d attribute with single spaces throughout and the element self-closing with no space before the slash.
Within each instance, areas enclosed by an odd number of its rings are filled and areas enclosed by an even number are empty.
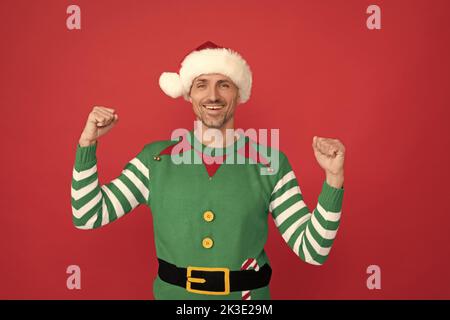
<svg viewBox="0 0 450 320">
<path fill-rule="evenodd" d="M 269 211 L 289 247 L 303 261 L 322 265 L 331 250 L 341 218 L 344 189 L 324 181 L 314 212 L 303 201 L 288 159 L 283 156 Z"/>
</svg>

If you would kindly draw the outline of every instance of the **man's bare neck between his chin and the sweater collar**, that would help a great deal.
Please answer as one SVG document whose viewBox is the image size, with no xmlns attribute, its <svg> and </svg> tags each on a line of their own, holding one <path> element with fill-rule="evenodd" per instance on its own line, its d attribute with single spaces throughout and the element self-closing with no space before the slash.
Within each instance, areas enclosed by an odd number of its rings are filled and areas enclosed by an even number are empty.
<svg viewBox="0 0 450 320">
<path fill-rule="evenodd" d="M 203 122 L 197 120 L 194 123 L 194 134 L 201 143 L 212 148 L 225 148 L 233 144 L 237 139 L 234 135 L 233 118 L 217 129 L 209 128 Z"/>
</svg>

